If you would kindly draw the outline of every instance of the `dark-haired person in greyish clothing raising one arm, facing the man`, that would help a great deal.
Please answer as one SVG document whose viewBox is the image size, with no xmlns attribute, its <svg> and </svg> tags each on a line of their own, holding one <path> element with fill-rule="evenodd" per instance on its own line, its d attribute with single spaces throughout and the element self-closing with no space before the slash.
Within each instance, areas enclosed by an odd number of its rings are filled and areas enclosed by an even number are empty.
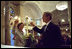
<svg viewBox="0 0 72 49">
<path fill-rule="evenodd" d="M 18 20 L 14 22 L 14 27 L 13 27 L 13 34 L 14 34 L 14 39 L 15 39 L 15 46 L 25 46 L 25 41 L 23 39 L 24 34 L 23 34 L 23 29 L 24 24 L 19 23 Z"/>
</svg>

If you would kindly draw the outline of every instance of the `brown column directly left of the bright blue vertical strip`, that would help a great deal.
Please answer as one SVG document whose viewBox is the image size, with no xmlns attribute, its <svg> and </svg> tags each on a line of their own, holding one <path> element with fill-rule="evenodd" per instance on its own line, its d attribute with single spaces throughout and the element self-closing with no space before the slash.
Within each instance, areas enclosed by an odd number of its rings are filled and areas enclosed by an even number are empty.
<svg viewBox="0 0 72 49">
<path fill-rule="evenodd" d="M 10 45 L 9 1 L 5 1 L 5 45 Z"/>
</svg>

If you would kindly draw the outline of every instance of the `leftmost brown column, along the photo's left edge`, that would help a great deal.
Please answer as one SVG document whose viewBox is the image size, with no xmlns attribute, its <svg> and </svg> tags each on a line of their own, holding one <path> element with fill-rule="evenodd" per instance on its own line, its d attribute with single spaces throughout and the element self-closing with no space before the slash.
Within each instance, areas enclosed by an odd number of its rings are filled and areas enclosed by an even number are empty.
<svg viewBox="0 0 72 49">
<path fill-rule="evenodd" d="M 1 44 L 5 44 L 5 16 L 4 16 L 5 2 L 1 1 Z"/>
</svg>

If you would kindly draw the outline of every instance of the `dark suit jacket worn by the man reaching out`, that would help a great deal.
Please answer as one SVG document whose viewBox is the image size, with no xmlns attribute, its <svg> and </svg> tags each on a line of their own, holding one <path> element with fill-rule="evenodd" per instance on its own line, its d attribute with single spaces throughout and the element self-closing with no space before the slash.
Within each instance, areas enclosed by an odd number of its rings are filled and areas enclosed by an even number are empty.
<svg viewBox="0 0 72 49">
<path fill-rule="evenodd" d="M 43 26 L 42 29 L 39 29 L 36 26 L 33 28 L 34 31 L 43 35 L 41 40 L 43 42 L 43 48 L 59 47 L 62 39 L 60 28 L 51 22 L 47 26 L 46 31 L 44 31 L 44 27 L 45 26 Z"/>
</svg>

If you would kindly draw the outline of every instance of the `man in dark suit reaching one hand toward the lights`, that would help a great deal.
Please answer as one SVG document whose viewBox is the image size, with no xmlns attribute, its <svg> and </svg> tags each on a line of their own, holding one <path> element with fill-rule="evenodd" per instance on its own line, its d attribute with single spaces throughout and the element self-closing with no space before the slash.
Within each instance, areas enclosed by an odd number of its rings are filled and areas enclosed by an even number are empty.
<svg viewBox="0 0 72 49">
<path fill-rule="evenodd" d="M 33 22 L 30 23 L 34 27 L 33 28 L 34 31 L 41 33 L 43 35 L 41 40 L 41 42 L 43 42 L 42 47 L 58 48 L 61 45 L 61 39 L 62 39 L 60 28 L 51 22 L 52 19 L 51 13 L 44 12 L 42 18 L 43 22 L 46 23 L 46 25 L 44 25 L 42 29 L 39 29 L 37 26 L 35 26 Z"/>
</svg>

